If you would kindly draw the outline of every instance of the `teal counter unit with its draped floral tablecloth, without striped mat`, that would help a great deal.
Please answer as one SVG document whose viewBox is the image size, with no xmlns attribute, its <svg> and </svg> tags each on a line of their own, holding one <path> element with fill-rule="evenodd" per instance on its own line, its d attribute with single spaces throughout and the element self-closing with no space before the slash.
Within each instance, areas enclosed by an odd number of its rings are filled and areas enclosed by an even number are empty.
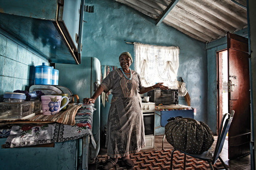
<svg viewBox="0 0 256 170">
<path fill-rule="evenodd" d="M 28 121 L 32 124 L 24 124 L 23 121 L 19 125 L 10 124 L 12 129 L 9 136 L 0 139 L 4 146 L 0 149 L 1 169 L 55 170 L 78 169 L 78 166 L 88 169 L 89 143 L 96 148 L 91 130 L 95 108 L 92 104 L 79 104 L 74 125 L 56 121 L 48 123 L 47 120 Z M 9 160 L 14 159 L 14 163 L 9 163 Z"/>
</svg>

